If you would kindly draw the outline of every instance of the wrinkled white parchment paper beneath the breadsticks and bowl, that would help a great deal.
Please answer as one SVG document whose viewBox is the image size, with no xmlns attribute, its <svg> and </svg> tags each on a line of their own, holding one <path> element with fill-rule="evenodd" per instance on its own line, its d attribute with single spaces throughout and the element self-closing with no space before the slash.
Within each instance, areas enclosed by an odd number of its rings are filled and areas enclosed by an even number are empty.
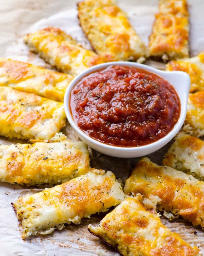
<svg viewBox="0 0 204 256">
<path fill-rule="evenodd" d="M 77 39 L 83 46 L 90 48 L 90 44 L 83 34 L 77 19 L 77 1 L 69 0 L 7 0 L 0 5 L 0 53 L 2 57 L 30 62 L 51 68 L 37 55 L 30 53 L 24 45 L 22 37 L 28 32 L 55 26 L 60 27 Z M 148 36 L 151 33 L 154 14 L 157 12 L 157 0 L 118 0 L 118 5 L 126 11 L 132 25 L 148 44 Z M 204 1 L 188 0 L 190 12 L 190 53 L 196 55 L 204 50 Z M 163 65 L 148 62 L 163 68 Z M 78 139 L 72 128 L 67 124 L 63 132 L 69 139 Z M 11 144 L 23 141 L 7 140 L 0 138 L 0 143 Z M 151 154 L 151 160 L 161 164 L 163 154 L 170 143 L 163 149 Z M 138 159 L 117 159 L 102 155 L 96 151 L 91 154 L 91 166 L 111 170 L 117 178 L 123 181 L 130 175 Z M 110 247 L 105 246 L 100 240 L 87 231 L 89 223 L 97 224 L 104 214 L 94 215 L 90 219 L 83 219 L 80 225 L 68 225 L 61 231 L 54 231 L 47 236 L 32 237 L 24 241 L 21 238 L 21 225 L 16 213 L 12 209 L 11 202 L 19 196 L 27 193 L 35 193 L 40 189 L 22 188 L 18 185 L 0 183 L 0 255 L 2 256 L 78 256 L 78 255 L 118 255 Z M 178 232 L 184 240 L 197 245 L 204 253 L 204 231 L 194 228 L 181 219 L 168 221 L 162 217 L 162 222 L 171 231 Z M 197 234 L 194 234 L 194 231 Z"/>
</svg>

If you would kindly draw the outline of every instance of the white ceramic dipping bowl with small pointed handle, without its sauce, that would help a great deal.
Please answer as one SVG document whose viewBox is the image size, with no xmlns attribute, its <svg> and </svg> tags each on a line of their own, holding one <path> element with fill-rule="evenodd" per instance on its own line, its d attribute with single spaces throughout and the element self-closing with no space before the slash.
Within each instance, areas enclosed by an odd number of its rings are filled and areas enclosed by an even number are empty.
<svg viewBox="0 0 204 256">
<path fill-rule="evenodd" d="M 88 136 L 85 132 L 83 132 L 77 124 L 74 122 L 72 118 L 72 114 L 70 111 L 70 96 L 71 91 L 73 87 L 85 76 L 87 76 L 90 73 L 93 73 L 95 71 L 98 71 L 100 69 L 105 69 L 110 65 L 121 65 L 121 66 L 127 66 L 127 67 L 135 67 L 140 68 L 143 70 L 150 71 L 152 73 L 157 74 L 158 76 L 166 79 L 171 83 L 171 85 L 175 88 L 178 97 L 180 99 L 181 103 L 181 112 L 180 117 L 178 119 L 178 122 L 175 124 L 173 129 L 165 135 L 163 138 L 159 139 L 156 142 L 152 142 L 147 145 L 142 145 L 139 147 L 116 147 L 113 145 L 105 144 L 103 142 L 100 142 L 98 140 L 95 140 Z M 80 73 L 77 77 L 75 77 L 68 88 L 66 89 L 65 96 L 64 96 L 64 108 L 66 117 L 70 123 L 70 125 L 73 127 L 73 129 L 77 132 L 79 137 L 82 141 L 87 143 L 91 148 L 104 153 L 109 156 L 113 157 L 119 157 L 119 158 L 133 158 L 133 157 L 141 157 L 148 155 L 150 153 L 153 153 L 157 151 L 158 149 L 162 148 L 164 145 L 166 145 L 174 136 L 177 134 L 177 132 L 180 130 L 181 126 L 184 123 L 185 117 L 186 117 L 186 111 L 187 111 L 187 100 L 188 100 L 188 93 L 190 88 L 190 78 L 187 73 L 181 72 L 181 71 L 161 71 L 152 67 L 149 67 L 147 65 L 135 63 L 135 62 L 127 62 L 127 61 L 117 61 L 117 62 L 107 62 L 99 65 L 95 65 L 82 73 Z"/>
</svg>

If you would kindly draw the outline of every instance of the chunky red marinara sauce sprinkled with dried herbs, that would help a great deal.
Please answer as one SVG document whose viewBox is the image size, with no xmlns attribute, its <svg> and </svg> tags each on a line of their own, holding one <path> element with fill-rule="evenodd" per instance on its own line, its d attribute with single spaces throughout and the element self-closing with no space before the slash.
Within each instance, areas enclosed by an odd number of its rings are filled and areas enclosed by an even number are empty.
<svg viewBox="0 0 204 256">
<path fill-rule="evenodd" d="M 69 107 L 87 135 L 118 147 L 157 141 L 180 116 L 179 97 L 167 80 L 119 65 L 82 78 L 71 91 Z"/>
</svg>

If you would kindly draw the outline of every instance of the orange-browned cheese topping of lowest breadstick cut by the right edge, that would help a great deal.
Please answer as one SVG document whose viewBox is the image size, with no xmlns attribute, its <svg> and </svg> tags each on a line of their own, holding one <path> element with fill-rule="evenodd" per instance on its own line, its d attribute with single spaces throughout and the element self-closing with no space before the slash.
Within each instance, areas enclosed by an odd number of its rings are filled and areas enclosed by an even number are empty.
<svg viewBox="0 0 204 256">
<path fill-rule="evenodd" d="M 204 182 L 167 166 L 143 158 L 126 180 L 125 194 L 158 196 L 158 210 L 180 215 L 193 225 L 204 227 Z M 173 215 L 171 216 L 173 217 Z"/>
</svg>

